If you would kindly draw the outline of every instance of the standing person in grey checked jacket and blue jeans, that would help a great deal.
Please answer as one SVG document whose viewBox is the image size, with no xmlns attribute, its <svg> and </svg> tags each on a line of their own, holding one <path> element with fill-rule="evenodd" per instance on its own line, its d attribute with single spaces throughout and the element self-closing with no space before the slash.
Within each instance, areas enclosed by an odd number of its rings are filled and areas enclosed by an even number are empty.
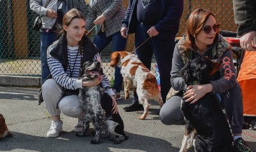
<svg viewBox="0 0 256 152">
<path fill-rule="evenodd" d="M 89 13 L 86 18 L 86 30 L 90 31 L 93 26 L 100 25 L 97 35 L 93 39 L 93 43 L 99 48 L 100 52 L 108 46 L 112 41 L 112 51 L 124 51 L 127 39 L 120 34 L 122 27 L 122 19 L 125 15 L 123 0 L 90 0 L 88 8 Z M 122 88 L 122 74 L 120 68 L 115 67 L 114 92 L 116 100 L 120 100 Z"/>
</svg>

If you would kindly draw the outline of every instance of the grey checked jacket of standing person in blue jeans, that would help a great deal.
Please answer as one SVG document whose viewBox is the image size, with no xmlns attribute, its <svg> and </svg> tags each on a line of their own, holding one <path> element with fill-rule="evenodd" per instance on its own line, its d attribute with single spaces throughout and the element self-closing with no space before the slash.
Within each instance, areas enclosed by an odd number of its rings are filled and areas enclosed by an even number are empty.
<svg viewBox="0 0 256 152">
<path fill-rule="evenodd" d="M 89 13 L 86 18 L 86 30 L 90 31 L 94 26 L 93 21 L 100 15 L 104 15 L 104 30 L 106 36 L 119 32 L 125 15 L 123 0 L 90 0 Z"/>
</svg>

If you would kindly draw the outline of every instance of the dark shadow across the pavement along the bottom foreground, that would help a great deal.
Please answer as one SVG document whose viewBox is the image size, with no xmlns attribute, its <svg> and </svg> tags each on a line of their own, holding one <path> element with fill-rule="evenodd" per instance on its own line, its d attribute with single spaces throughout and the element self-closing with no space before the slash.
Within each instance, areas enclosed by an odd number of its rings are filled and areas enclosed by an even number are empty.
<svg viewBox="0 0 256 152">
<path fill-rule="evenodd" d="M 0 139 L 1 151 L 179 151 L 172 145 L 154 137 L 127 133 L 129 139 L 121 144 L 113 144 L 108 139 L 102 139 L 98 145 L 90 144 L 93 135 L 86 137 L 76 137 L 75 132 L 61 132 L 56 139 L 48 137 L 38 137 L 28 134 L 14 132 L 13 137 Z M 132 147 L 131 147 L 132 143 Z M 163 149 L 159 149 L 159 145 Z M 18 150 L 19 149 L 19 150 Z"/>
</svg>

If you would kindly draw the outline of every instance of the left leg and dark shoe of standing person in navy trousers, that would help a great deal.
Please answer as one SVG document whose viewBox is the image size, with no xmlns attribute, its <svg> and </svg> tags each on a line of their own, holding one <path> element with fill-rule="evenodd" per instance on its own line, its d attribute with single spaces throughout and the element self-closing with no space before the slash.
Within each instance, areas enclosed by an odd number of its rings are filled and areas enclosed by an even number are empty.
<svg viewBox="0 0 256 152">
<path fill-rule="evenodd" d="M 149 36 L 147 34 L 147 28 L 141 24 L 138 24 L 136 27 L 135 32 L 135 48 L 136 49 L 136 55 L 138 55 L 138 58 L 143 62 L 143 64 L 150 70 L 151 69 L 151 60 L 152 60 L 152 42 L 151 39 L 148 39 Z M 148 39 L 147 42 L 145 42 Z M 143 45 L 141 45 L 143 43 Z M 141 45 L 141 46 L 140 46 Z M 140 46 L 138 48 L 138 46 Z M 128 106 L 124 107 L 125 111 L 138 111 L 143 110 L 143 106 L 139 104 L 138 95 L 135 92 L 134 93 L 134 99 L 132 100 L 132 103 Z"/>
</svg>

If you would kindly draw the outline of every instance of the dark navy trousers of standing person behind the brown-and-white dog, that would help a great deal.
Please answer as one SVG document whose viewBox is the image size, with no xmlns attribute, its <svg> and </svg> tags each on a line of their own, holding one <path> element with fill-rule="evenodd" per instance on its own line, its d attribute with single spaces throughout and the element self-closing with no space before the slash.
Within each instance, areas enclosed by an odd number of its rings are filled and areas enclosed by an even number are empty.
<svg viewBox="0 0 256 152">
<path fill-rule="evenodd" d="M 138 46 L 149 38 L 147 34 L 147 30 L 149 28 L 150 26 L 145 26 L 140 23 L 137 24 L 135 32 L 135 48 L 138 48 Z M 171 37 L 172 38 L 168 40 L 153 37 L 135 51 L 138 58 L 149 70 L 151 69 L 151 60 L 154 53 L 157 66 L 159 68 L 161 96 L 163 98 L 163 102 L 165 102 L 166 95 L 171 88 L 170 73 L 172 71 L 172 57 L 175 47 L 175 36 Z M 132 102 L 138 102 L 138 95 L 136 93 L 134 93 L 134 99 Z"/>
</svg>

